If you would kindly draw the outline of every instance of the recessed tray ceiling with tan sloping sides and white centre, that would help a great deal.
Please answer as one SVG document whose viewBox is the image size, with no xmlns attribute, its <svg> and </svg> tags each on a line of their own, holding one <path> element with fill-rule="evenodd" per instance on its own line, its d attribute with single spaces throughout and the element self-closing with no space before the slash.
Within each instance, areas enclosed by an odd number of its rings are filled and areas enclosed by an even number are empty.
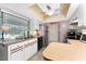
<svg viewBox="0 0 86 64">
<path fill-rule="evenodd" d="M 28 11 L 45 22 L 57 22 L 66 16 L 69 9 L 70 3 L 39 3 L 30 5 Z"/>
</svg>

